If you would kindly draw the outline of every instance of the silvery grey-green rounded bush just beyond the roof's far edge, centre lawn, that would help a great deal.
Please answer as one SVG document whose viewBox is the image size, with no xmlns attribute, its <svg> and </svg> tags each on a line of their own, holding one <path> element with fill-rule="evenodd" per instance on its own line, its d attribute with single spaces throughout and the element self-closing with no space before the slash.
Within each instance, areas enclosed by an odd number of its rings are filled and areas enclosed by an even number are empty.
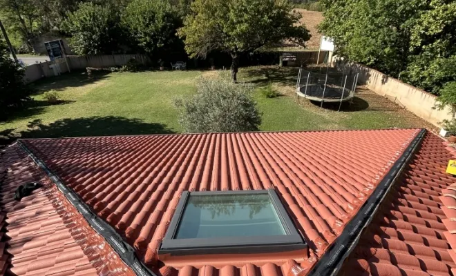
<svg viewBox="0 0 456 276">
<path fill-rule="evenodd" d="M 200 79 L 197 94 L 187 101 L 175 101 L 179 123 L 185 132 L 256 131 L 261 115 L 251 97 L 253 86 L 225 79 Z"/>
</svg>

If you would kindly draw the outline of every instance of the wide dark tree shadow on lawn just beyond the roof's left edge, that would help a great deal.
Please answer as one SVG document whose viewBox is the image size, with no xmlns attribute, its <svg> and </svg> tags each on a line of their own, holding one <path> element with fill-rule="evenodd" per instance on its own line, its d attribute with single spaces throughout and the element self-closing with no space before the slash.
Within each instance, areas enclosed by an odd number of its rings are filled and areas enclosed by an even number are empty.
<svg viewBox="0 0 456 276">
<path fill-rule="evenodd" d="M 48 125 L 41 119 L 30 121 L 28 130 L 20 132 L 21 138 L 57 138 L 106 135 L 171 134 L 173 130 L 164 124 L 144 123 L 142 119 L 125 117 L 83 117 L 60 119 Z"/>
</svg>

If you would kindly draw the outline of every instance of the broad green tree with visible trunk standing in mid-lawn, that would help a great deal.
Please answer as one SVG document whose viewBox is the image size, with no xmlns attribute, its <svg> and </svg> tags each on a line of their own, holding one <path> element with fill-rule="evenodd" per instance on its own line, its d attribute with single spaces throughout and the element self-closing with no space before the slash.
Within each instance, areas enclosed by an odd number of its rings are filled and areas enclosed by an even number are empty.
<svg viewBox="0 0 456 276">
<path fill-rule="evenodd" d="M 241 55 L 283 39 L 304 45 L 310 34 L 300 18 L 286 0 L 196 0 L 178 33 L 191 57 L 228 52 L 236 82 Z"/>
</svg>

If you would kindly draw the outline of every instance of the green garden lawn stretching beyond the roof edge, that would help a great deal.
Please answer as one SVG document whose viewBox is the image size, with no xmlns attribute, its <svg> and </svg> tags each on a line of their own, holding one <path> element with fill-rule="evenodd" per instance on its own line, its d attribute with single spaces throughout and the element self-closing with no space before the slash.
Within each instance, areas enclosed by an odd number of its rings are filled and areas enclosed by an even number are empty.
<svg viewBox="0 0 456 276">
<path fill-rule="evenodd" d="M 0 135 L 75 137 L 182 132 L 173 108 L 176 97 L 191 97 L 201 75 L 211 71 L 124 72 L 96 75 L 82 72 L 35 83 L 33 107 L 0 123 Z M 345 112 L 321 109 L 293 95 L 295 68 L 243 68 L 240 79 L 258 86 L 255 99 L 263 112 L 261 130 L 323 130 L 426 127 L 405 110 L 372 92 L 361 92 Z M 259 89 L 272 83 L 280 97 L 266 99 Z M 50 105 L 43 92 L 57 90 L 63 103 Z"/>
</svg>

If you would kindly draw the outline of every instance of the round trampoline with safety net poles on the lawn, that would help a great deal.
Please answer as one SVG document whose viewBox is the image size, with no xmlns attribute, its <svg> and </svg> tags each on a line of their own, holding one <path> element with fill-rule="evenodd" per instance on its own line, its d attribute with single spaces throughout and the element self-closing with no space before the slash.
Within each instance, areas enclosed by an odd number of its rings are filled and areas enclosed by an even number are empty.
<svg viewBox="0 0 456 276">
<path fill-rule="evenodd" d="M 301 68 L 296 83 L 296 95 L 310 101 L 340 103 L 351 101 L 357 88 L 358 75 L 345 72 L 310 72 Z"/>
</svg>

